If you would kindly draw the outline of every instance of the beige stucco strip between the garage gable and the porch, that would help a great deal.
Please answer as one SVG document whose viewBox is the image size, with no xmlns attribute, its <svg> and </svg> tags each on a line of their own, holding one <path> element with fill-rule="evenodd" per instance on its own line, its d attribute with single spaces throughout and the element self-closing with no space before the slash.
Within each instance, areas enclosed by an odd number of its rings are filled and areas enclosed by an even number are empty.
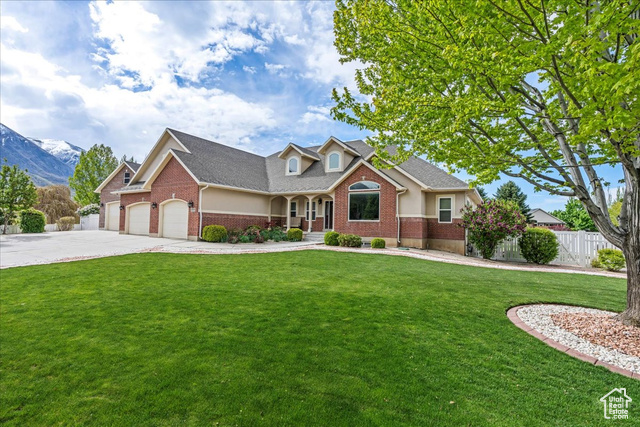
<svg viewBox="0 0 640 427">
<path fill-rule="evenodd" d="M 269 199 L 263 194 L 206 188 L 202 191 L 202 211 L 242 215 L 269 215 Z"/>
</svg>

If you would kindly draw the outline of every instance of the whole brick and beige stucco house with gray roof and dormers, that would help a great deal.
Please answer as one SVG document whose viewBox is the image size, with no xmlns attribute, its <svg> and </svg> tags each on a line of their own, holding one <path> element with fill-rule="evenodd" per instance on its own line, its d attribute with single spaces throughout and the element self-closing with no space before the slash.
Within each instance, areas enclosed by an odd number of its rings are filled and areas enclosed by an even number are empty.
<svg viewBox="0 0 640 427">
<path fill-rule="evenodd" d="M 477 191 L 416 157 L 372 165 L 360 140 L 290 143 L 267 157 L 166 129 L 142 164 L 122 163 L 95 191 L 100 227 L 197 240 L 202 227 L 267 223 L 464 253 L 460 209 Z"/>
</svg>

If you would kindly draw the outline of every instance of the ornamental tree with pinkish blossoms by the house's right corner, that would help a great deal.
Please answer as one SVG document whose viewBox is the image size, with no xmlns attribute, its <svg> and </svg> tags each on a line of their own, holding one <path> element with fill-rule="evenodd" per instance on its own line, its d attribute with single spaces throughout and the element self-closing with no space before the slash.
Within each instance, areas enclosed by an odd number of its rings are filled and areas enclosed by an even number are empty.
<svg viewBox="0 0 640 427">
<path fill-rule="evenodd" d="M 478 248 L 482 257 L 490 259 L 500 242 L 524 232 L 527 219 L 514 202 L 489 200 L 475 209 L 465 206 L 461 226 L 469 230 L 469 241 Z"/>
</svg>

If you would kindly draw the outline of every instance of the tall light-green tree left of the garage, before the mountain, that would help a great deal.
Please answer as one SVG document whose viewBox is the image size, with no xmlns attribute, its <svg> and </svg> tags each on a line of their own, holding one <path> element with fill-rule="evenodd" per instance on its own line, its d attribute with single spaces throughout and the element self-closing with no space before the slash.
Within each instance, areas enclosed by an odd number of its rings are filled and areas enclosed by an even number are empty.
<svg viewBox="0 0 640 427">
<path fill-rule="evenodd" d="M 94 145 L 82 154 L 73 176 L 69 178 L 69 187 L 75 191 L 73 198 L 80 205 L 100 203 L 100 195 L 94 190 L 118 167 L 118 159 L 111 147 Z"/>
</svg>

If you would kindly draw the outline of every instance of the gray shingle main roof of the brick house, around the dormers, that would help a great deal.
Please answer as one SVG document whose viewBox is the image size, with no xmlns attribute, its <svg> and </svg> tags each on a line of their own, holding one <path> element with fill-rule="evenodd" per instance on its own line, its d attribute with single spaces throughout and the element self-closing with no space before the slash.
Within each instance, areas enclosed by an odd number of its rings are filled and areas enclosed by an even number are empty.
<svg viewBox="0 0 640 427">
<path fill-rule="evenodd" d="M 191 152 L 189 154 L 174 150 L 176 156 L 199 181 L 271 193 L 327 190 L 338 179 L 349 173 L 358 161 L 374 151 L 364 141 L 346 141 L 344 143 L 360 153 L 360 157 L 355 157 L 342 172 L 325 172 L 325 156 L 317 152 L 319 145 L 300 147 L 293 144 L 309 156 L 317 158 L 318 161 L 313 162 L 300 175 L 285 175 L 285 159 L 278 157 L 282 151 L 262 157 L 174 129 L 169 130 Z M 469 188 L 464 181 L 420 158 L 410 158 L 400 167 L 433 189 Z M 380 172 L 388 176 L 384 171 Z"/>
</svg>

